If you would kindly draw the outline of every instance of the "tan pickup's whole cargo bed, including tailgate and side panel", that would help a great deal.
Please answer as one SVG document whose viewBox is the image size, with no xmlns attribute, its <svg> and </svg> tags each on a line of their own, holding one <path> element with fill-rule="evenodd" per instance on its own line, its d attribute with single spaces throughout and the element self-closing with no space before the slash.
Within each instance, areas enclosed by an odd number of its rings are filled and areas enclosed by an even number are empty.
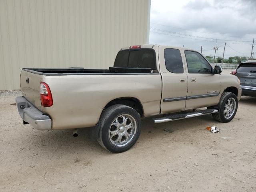
<svg viewBox="0 0 256 192">
<path fill-rule="evenodd" d="M 50 88 L 50 107 L 41 104 L 40 82 Z M 50 116 L 52 129 L 95 126 L 104 107 L 120 98 L 139 100 L 145 117 L 160 112 L 161 76 L 158 70 L 148 68 L 25 68 L 20 86 L 31 106 Z"/>
</svg>

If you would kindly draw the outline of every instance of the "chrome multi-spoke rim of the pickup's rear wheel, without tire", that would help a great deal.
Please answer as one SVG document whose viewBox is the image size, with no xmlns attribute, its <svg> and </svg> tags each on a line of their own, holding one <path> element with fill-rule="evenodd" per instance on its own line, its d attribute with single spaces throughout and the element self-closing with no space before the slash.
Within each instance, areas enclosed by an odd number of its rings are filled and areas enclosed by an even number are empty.
<svg viewBox="0 0 256 192">
<path fill-rule="evenodd" d="M 109 139 L 115 146 L 126 146 L 134 137 L 137 130 L 135 119 L 128 114 L 118 116 L 110 125 Z"/>
</svg>

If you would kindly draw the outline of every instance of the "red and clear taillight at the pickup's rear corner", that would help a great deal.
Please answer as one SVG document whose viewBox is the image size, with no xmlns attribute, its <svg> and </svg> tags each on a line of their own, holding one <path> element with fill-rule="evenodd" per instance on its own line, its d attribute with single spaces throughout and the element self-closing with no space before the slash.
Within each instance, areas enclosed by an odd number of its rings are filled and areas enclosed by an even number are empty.
<svg viewBox="0 0 256 192">
<path fill-rule="evenodd" d="M 41 105 L 43 107 L 52 106 L 53 104 L 52 93 L 49 86 L 44 82 L 40 83 L 40 98 L 41 98 Z"/>
</svg>

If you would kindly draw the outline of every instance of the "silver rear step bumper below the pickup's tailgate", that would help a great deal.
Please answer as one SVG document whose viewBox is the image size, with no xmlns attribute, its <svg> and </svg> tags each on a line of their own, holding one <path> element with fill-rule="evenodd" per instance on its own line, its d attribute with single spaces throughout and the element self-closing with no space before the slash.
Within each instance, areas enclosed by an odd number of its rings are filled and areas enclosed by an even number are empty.
<svg viewBox="0 0 256 192">
<path fill-rule="evenodd" d="M 44 115 L 23 96 L 16 97 L 16 104 L 20 117 L 31 124 L 37 130 L 51 130 L 52 120 L 49 116 Z"/>
</svg>

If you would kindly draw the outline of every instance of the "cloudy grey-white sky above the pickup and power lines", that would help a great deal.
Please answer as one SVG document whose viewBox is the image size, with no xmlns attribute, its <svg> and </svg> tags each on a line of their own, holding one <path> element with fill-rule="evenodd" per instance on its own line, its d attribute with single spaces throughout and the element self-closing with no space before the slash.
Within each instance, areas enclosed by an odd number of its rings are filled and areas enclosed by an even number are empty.
<svg viewBox="0 0 256 192">
<path fill-rule="evenodd" d="M 205 56 L 250 57 L 256 0 L 151 0 L 150 44 L 183 46 Z M 256 43 L 254 44 L 256 58 Z"/>
</svg>

